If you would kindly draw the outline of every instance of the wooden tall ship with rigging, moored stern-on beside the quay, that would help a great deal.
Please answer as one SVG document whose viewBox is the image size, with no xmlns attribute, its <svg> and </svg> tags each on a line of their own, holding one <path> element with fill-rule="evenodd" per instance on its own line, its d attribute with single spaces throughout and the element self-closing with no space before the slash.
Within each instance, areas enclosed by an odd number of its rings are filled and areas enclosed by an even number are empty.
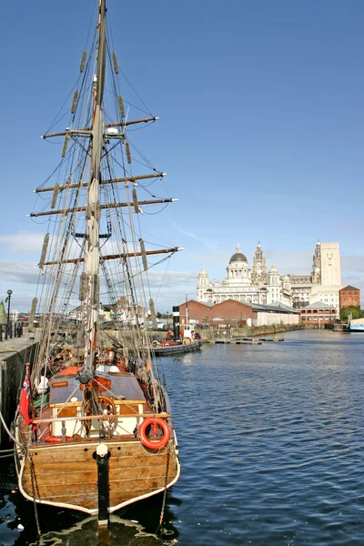
<svg viewBox="0 0 364 546">
<path fill-rule="evenodd" d="M 69 124 L 61 113 L 62 130 L 55 124 L 43 136 L 61 139 L 62 152 L 30 215 L 46 220 L 48 232 L 29 319 L 30 329 L 40 321 L 39 344 L 16 414 L 15 459 L 26 499 L 105 522 L 179 476 L 167 389 L 143 323 L 147 314 L 155 320 L 149 270 L 180 248 L 147 248 L 142 238 L 148 207 L 155 214 L 176 199 L 156 196 L 165 174 L 128 136 L 157 117 L 132 118 L 133 103 L 119 90 L 128 80 L 106 39 L 106 0 L 96 18 Z M 141 166 L 147 172 L 134 170 Z M 115 311 L 112 334 L 100 298 Z M 117 320 L 123 313 L 128 328 Z"/>
</svg>

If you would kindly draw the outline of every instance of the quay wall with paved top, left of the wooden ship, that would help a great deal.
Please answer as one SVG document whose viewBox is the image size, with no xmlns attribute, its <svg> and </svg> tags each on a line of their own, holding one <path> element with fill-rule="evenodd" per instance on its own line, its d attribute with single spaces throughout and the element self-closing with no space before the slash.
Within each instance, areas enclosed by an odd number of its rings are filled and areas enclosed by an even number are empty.
<svg viewBox="0 0 364 546">
<path fill-rule="evenodd" d="M 0 411 L 10 428 L 23 385 L 25 362 L 32 360 L 37 341 L 34 334 L 0 342 Z M 0 448 L 8 445 L 8 436 L 0 423 Z"/>
</svg>

